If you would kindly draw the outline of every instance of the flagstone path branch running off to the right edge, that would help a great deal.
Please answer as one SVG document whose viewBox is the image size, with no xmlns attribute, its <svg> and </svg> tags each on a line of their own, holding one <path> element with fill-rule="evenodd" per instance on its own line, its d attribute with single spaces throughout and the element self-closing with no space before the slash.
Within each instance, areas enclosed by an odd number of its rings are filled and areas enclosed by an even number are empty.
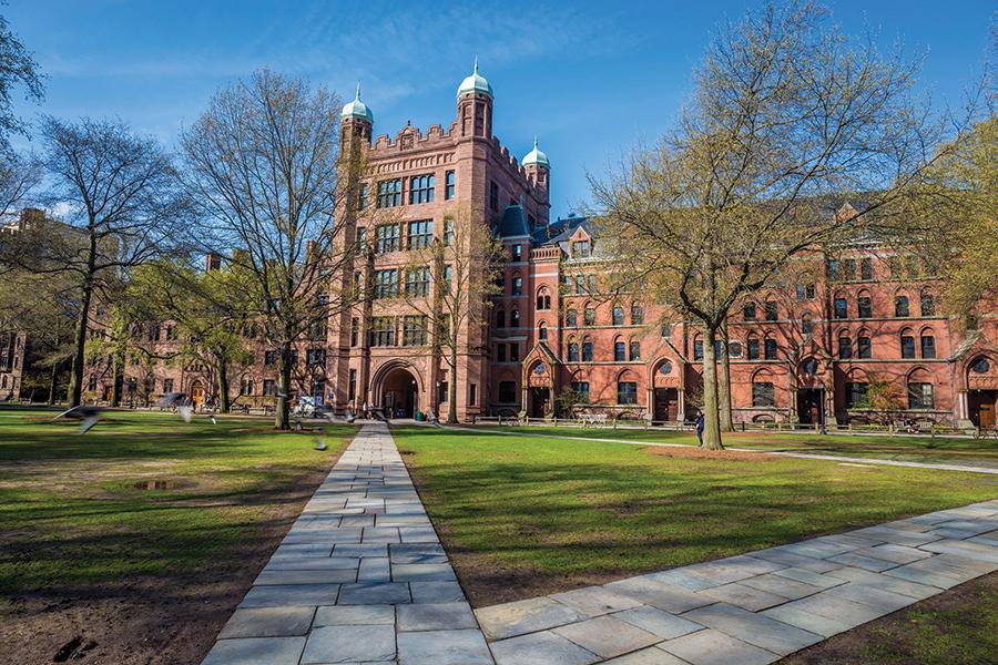
<svg viewBox="0 0 998 665">
<path fill-rule="evenodd" d="M 998 570 L 998 500 L 476 611 L 498 665 L 762 665 Z"/>
</svg>

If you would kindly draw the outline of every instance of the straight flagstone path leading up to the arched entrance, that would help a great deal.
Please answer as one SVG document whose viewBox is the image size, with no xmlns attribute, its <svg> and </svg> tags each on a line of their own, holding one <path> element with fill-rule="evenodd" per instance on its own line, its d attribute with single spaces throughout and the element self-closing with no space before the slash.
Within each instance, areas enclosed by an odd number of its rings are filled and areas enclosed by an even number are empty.
<svg viewBox="0 0 998 665">
<path fill-rule="evenodd" d="M 384 423 L 366 424 L 203 665 L 492 665 Z"/>
</svg>

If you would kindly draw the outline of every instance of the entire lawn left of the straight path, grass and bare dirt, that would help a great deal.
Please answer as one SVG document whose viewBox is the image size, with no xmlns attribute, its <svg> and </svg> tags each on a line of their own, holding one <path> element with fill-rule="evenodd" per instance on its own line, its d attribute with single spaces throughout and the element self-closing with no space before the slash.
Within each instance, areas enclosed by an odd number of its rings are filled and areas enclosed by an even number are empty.
<svg viewBox="0 0 998 665">
<path fill-rule="evenodd" d="M 0 410 L 0 662 L 196 662 L 356 428 Z"/>
</svg>

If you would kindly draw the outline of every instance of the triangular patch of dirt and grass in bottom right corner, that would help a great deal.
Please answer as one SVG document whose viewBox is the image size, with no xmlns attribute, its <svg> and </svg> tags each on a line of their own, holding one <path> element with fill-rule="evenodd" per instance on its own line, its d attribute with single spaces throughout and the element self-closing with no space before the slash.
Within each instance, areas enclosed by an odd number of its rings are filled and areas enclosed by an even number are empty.
<svg viewBox="0 0 998 665">
<path fill-rule="evenodd" d="M 841 633 L 780 665 L 992 665 L 995 654 L 998 573 Z"/>
</svg>

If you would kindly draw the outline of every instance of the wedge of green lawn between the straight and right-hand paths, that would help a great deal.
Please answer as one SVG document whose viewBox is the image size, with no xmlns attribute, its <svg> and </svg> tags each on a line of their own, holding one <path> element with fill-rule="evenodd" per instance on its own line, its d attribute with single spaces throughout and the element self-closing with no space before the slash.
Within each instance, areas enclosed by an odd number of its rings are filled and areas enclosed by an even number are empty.
<svg viewBox="0 0 998 665">
<path fill-rule="evenodd" d="M 998 477 L 985 474 L 472 430 L 393 433 L 476 605 L 998 497 Z"/>
</svg>

